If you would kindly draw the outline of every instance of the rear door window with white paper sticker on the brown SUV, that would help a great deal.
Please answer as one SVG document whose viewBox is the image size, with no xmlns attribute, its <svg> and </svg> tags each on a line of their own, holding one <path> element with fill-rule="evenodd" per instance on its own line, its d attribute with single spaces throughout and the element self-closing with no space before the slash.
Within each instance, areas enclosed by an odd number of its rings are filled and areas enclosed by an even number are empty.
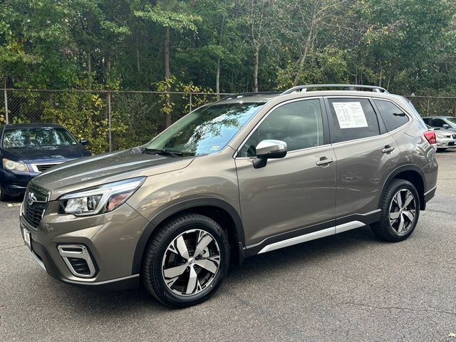
<svg viewBox="0 0 456 342">
<path fill-rule="evenodd" d="M 378 118 L 366 98 L 328 98 L 331 142 L 369 138 L 380 134 Z"/>
</svg>

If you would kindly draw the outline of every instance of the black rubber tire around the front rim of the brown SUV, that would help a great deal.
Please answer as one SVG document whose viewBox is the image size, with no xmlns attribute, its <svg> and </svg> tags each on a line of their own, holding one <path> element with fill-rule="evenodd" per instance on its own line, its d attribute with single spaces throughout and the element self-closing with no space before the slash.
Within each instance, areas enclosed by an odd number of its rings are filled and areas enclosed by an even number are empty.
<svg viewBox="0 0 456 342">
<path fill-rule="evenodd" d="M 214 273 L 207 271 L 207 269 L 204 269 L 197 264 L 197 261 L 202 261 L 201 259 L 204 258 L 202 257 L 202 254 L 195 256 L 196 251 L 192 251 L 193 247 L 189 247 L 189 244 L 192 245 L 189 241 L 195 242 L 195 246 L 198 244 L 198 241 L 201 242 L 202 239 L 198 240 L 199 234 L 205 234 L 204 232 L 209 233 L 209 238 L 207 239 L 212 238 L 212 241 L 206 249 L 209 249 L 211 246 L 213 249 L 218 248 L 219 264 L 217 266 L 217 271 Z M 192 234 L 198 234 L 198 237 L 194 240 L 185 240 L 185 248 L 190 256 L 189 259 L 185 259 L 181 257 L 182 254 L 177 250 L 177 239 L 180 239 L 180 237 L 182 237 L 182 239 L 192 237 Z M 205 237 L 205 235 L 201 236 Z M 177 247 L 177 249 L 175 247 Z M 174 252 L 174 255 L 170 252 L 170 248 L 176 249 L 179 253 Z M 197 248 L 195 247 L 195 249 Z M 204 253 L 206 253 L 206 249 L 204 249 Z M 207 251 L 208 256 L 212 255 L 217 258 L 217 253 L 211 253 L 212 252 L 209 250 Z M 165 263 L 170 259 L 170 257 L 174 257 L 175 260 L 180 260 L 180 262 L 174 260 L 174 266 L 186 267 L 185 271 L 180 274 L 180 276 L 177 276 L 175 283 L 170 285 L 171 287 L 169 287 L 169 285 L 165 282 Z M 194 257 L 195 260 L 193 260 Z M 198 260 L 198 258 L 200 259 Z M 209 299 L 209 297 L 212 296 L 222 284 L 222 281 L 228 271 L 228 265 L 229 242 L 227 234 L 224 232 L 222 227 L 220 227 L 213 219 L 210 219 L 202 214 L 183 214 L 162 225 L 162 227 L 158 227 L 155 234 L 151 237 L 150 242 L 146 247 L 142 262 L 142 282 L 147 291 L 158 301 L 166 304 L 167 306 L 183 308 L 199 304 L 202 301 Z M 190 269 L 190 267 L 193 269 Z M 171 266 L 168 268 L 171 268 Z M 190 274 L 196 274 L 198 271 L 197 284 L 195 284 L 195 294 L 184 294 L 183 292 L 182 294 L 177 294 L 176 291 L 179 291 L 177 289 L 173 289 L 173 286 L 176 286 L 175 284 L 183 284 L 182 286 L 185 286 L 185 276 L 187 276 L 187 286 L 190 288 Z M 185 274 L 186 272 L 189 274 Z M 206 274 L 206 277 L 207 274 L 212 277 L 210 281 L 207 281 L 206 287 L 199 287 L 199 276 L 202 274 Z M 181 278 L 183 280 L 181 280 Z M 170 282 L 170 279 L 171 278 L 168 278 L 167 281 Z M 202 280 L 204 281 L 204 279 Z M 201 287 L 202 289 L 200 289 Z"/>
</svg>

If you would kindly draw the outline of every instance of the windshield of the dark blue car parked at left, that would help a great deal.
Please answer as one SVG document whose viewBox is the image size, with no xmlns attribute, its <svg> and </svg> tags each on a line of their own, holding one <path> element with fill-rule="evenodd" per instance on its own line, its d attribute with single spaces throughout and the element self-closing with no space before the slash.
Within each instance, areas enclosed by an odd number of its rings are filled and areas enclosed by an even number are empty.
<svg viewBox="0 0 456 342">
<path fill-rule="evenodd" d="M 10 128 L 5 129 L 4 148 L 77 145 L 68 130 L 63 128 Z"/>
</svg>

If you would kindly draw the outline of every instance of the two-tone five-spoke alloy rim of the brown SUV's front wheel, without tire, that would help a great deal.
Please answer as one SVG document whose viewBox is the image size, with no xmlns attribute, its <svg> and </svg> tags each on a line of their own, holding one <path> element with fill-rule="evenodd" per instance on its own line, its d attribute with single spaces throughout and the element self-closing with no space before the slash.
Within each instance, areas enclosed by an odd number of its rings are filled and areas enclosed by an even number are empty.
<svg viewBox="0 0 456 342">
<path fill-rule="evenodd" d="M 162 277 L 175 294 L 195 296 L 212 283 L 219 265 L 219 244 L 212 234 L 189 229 L 168 245 L 162 260 Z"/>
</svg>

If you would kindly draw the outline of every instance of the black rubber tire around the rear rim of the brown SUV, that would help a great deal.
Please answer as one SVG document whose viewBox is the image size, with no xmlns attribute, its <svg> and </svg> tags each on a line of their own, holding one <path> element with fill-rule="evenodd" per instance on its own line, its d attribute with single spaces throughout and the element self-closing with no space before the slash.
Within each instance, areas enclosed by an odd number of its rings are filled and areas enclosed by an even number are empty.
<svg viewBox="0 0 456 342">
<path fill-rule="evenodd" d="M 401 197 L 404 197 L 405 195 L 408 195 L 409 193 L 413 196 L 413 201 L 414 201 L 414 215 L 413 219 L 409 219 L 410 212 L 413 212 L 413 210 L 403 210 L 401 211 L 399 209 L 399 206 L 397 205 L 397 201 L 395 199 L 396 195 L 398 193 L 401 193 L 402 195 L 399 195 Z M 405 204 L 405 201 L 403 201 L 403 204 Z M 411 202 L 410 202 L 410 208 L 412 207 Z M 418 222 L 418 218 L 420 217 L 420 196 L 418 195 L 418 191 L 416 190 L 415 186 L 408 182 L 408 180 L 393 180 L 390 182 L 388 185 L 388 188 L 385 191 L 385 194 L 383 195 L 383 199 L 380 205 L 381 209 L 381 216 L 380 216 L 380 221 L 375 222 L 374 224 L 371 224 L 371 229 L 373 233 L 379 237 L 380 239 L 390 241 L 390 242 L 400 242 L 408 237 L 410 237 L 410 234 L 413 233 L 413 230 L 416 227 L 416 224 Z M 408 208 L 405 208 L 408 209 Z M 391 211 L 391 212 L 390 212 Z M 408 213 L 407 214 L 403 214 Z M 390 220 L 390 214 L 393 215 L 398 215 L 398 219 L 394 219 L 394 217 Z M 393 220 L 393 223 L 391 223 Z M 401 220 L 404 220 L 405 222 L 403 224 L 403 232 L 400 232 L 400 222 Z M 408 226 L 405 226 L 405 224 L 408 224 Z M 405 227 L 407 229 L 405 230 Z"/>
</svg>

